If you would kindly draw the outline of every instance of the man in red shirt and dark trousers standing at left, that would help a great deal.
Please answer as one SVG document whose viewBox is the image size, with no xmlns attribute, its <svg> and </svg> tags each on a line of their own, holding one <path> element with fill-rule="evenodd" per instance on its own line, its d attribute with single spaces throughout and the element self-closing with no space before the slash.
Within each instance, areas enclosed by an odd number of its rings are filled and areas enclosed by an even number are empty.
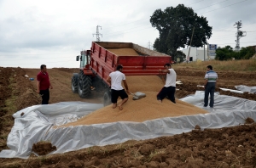
<svg viewBox="0 0 256 168">
<path fill-rule="evenodd" d="M 47 73 L 46 65 L 41 64 L 41 71 L 38 73 L 37 76 L 37 92 L 42 97 L 42 104 L 48 104 L 49 103 L 49 88 L 52 89 L 49 82 L 49 75 Z"/>
</svg>

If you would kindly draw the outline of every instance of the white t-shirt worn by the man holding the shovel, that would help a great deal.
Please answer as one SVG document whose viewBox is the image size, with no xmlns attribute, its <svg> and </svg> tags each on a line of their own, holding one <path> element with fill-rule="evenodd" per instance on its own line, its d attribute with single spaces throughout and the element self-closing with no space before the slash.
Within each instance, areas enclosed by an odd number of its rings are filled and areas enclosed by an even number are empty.
<svg viewBox="0 0 256 168">
<path fill-rule="evenodd" d="M 122 87 L 122 81 L 125 80 L 125 74 L 123 74 L 119 70 L 116 70 L 114 72 L 111 72 L 109 76 L 111 77 L 111 89 L 116 91 L 124 89 Z"/>
</svg>

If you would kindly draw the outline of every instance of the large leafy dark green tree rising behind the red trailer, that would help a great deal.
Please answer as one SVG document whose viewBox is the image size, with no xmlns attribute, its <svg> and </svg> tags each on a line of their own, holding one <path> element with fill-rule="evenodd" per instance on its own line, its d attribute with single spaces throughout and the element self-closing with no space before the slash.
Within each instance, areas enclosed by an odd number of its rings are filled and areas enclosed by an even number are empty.
<svg viewBox="0 0 256 168">
<path fill-rule="evenodd" d="M 172 56 L 177 53 L 177 48 L 190 45 L 193 27 L 195 31 L 191 46 L 202 47 L 212 36 L 212 27 L 208 25 L 207 19 L 183 4 L 176 8 L 167 7 L 164 11 L 156 9 L 150 17 L 150 23 L 160 32 L 160 37 L 154 41 L 154 48 Z"/>
</svg>

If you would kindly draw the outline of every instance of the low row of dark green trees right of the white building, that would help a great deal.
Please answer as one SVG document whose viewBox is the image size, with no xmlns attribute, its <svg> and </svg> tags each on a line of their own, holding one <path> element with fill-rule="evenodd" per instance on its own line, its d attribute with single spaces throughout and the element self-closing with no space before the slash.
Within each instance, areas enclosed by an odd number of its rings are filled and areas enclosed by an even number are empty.
<svg viewBox="0 0 256 168">
<path fill-rule="evenodd" d="M 255 50 L 252 47 L 241 48 L 239 52 L 236 52 L 230 46 L 224 48 L 217 48 L 215 59 L 228 60 L 228 59 L 250 59 L 255 54 Z"/>
</svg>

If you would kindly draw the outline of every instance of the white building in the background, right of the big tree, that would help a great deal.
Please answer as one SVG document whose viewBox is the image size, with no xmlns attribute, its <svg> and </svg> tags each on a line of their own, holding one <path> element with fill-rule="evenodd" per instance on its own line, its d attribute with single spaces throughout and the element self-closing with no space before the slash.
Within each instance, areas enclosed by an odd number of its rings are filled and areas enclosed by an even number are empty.
<svg viewBox="0 0 256 168">
<path fill-rule="evenodd" d="M 192 61 L 197 61 L 197 60 L 204 61 L 208 59 L 215 59 L 215 56 L 208 56 L 207 48 L 205 48 L 205 54 L 204 54 L 204 48 L 191 47 L 190 52 L 189 52 L 189 48 L 184 48 L 181 51 L 185 53 L 187 57 L 188 55 L 190 58 L 192 57 Z"/>
</svg>

